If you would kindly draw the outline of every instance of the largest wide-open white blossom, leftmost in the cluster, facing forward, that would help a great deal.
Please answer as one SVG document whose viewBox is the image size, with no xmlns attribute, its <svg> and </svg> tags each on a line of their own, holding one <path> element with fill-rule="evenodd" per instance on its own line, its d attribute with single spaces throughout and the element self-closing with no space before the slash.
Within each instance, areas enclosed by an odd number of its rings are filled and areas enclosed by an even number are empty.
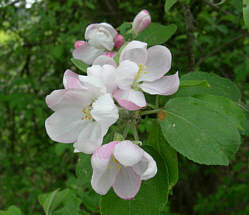
<svg viewBox="0 0 249 215">
<path fill-rule="evenodd" d="M 57 142 L 74 143 L 76 151 L 93 153 L 119 115 L 112 96 L 102 85 L 81 85 L 77 74 L 66 71 L 66 89 L 46 97 L 54 113 L 45 121 L 49 137 Z"/>
</svg>

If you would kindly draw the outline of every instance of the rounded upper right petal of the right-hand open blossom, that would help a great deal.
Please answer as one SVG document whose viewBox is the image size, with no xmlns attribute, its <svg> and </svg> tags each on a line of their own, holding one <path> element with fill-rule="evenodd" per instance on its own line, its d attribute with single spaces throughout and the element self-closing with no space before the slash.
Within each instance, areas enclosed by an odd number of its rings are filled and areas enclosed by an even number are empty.
<svg viewBox="0 0 249 215">
<path fill-rule="evenodd" d="M 171 68 L 171 53 L 165 46 L 157 45 L 148 49 L 148 60 L 145 64 L 141 81 L 155 81 L 166 74 Z"/>
</svg>

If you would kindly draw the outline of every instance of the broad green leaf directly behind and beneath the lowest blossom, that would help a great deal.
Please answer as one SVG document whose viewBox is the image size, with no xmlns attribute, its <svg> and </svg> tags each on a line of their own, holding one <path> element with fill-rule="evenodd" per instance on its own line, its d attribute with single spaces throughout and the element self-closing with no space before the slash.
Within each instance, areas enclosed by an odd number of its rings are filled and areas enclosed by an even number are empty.
<svg viewBox="0 0 249 215">
<path fill-rule="evenodd" d="M 161 156 L 151 147 L 146 151 L 155 159 L 156 176 L 142 181 L 140 191 L 132 200 L 120 199 L 112 190 L 102 197 L 101 215 L 159 215 L 168 198 L 168 173 Z"/>
</svg>

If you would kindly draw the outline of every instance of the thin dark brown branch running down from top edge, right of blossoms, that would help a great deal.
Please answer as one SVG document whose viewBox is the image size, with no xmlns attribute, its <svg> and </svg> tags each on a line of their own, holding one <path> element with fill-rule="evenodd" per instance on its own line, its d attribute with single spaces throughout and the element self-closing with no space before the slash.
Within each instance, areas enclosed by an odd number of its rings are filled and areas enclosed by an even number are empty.
<svg viewBox="0 0 249 215">
<path fill-rule="evenodd" d="M 186 24 L 186 31 L 187 31 L 187 52 L 188 52 L 188 59 L 189 59 L 189 65 L 188 70 L 193 71 L 194 65 L 195 65 L 195 56 L 194 56 L 194 43 L 195 43 L 195 37 L 194 37 L 194 18 L 191 13 L 191 10 L 188 5 L 184 4 L 184 1 L 182 0 L 182 8 L 183 8 L 183 14 L 184 14 L 184 20 Z"/>
</svg>

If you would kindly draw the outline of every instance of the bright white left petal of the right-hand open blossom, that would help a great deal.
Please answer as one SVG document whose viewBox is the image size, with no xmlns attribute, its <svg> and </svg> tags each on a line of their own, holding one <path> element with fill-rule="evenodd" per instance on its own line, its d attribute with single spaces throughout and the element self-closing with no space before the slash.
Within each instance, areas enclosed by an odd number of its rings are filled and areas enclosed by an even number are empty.
<svg viewBox="0 0 249 215">
<path fill-rule="evenodd" d="M 116 70 L 116 81 L 120 89 L 130 89 L 139 67 L 129 60 L 122 61 Z"/>
</svg>

